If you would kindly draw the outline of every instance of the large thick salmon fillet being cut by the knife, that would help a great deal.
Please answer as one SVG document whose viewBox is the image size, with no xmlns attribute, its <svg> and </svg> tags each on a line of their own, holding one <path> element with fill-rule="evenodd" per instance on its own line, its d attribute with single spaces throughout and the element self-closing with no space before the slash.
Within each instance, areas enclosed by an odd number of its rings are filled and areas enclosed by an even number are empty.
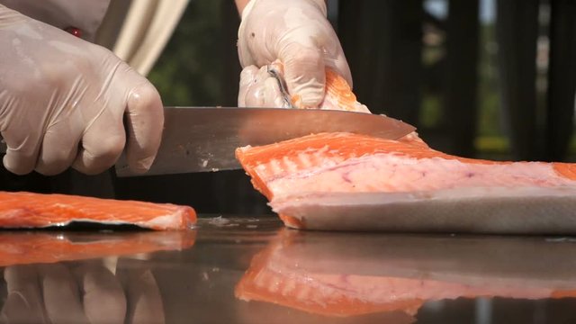
<svg viewBox="0 0 576 324">
<path fill-rule="evenodd" d="M 327 82 L 324 102 L 356 109 L 346 81 Z M 455 157 L 415 132 L 312 134 L 236 156 L 296 229 L 576 233 L 576 164 Z"/>
</svg>

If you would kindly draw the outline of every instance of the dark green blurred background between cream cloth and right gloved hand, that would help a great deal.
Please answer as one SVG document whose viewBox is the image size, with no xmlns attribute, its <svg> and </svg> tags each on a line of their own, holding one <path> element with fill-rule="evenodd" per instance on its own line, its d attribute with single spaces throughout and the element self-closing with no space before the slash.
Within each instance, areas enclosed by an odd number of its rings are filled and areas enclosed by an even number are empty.
<svg viewBox="0 0 576 324">
<path fill-rule="evenodd" d="M 238 24 L 233 1 L 190 1 L 148 75 L 165 105 L 236 104 Z"/>
</svg>

